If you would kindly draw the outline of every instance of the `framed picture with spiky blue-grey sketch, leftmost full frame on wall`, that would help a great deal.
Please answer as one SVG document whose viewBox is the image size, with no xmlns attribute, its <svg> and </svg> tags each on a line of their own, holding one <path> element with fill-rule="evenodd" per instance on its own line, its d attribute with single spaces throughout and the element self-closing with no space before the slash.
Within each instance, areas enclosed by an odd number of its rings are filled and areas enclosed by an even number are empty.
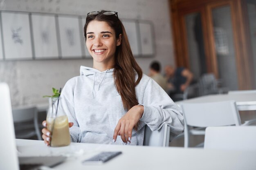
<svg viewBox="0 0 256 170">
<path fill-rule="evenodd" d="M 1 17 L 5 60 L 32 59 L 29 13 L 2 12 Z"/>
</svg>

